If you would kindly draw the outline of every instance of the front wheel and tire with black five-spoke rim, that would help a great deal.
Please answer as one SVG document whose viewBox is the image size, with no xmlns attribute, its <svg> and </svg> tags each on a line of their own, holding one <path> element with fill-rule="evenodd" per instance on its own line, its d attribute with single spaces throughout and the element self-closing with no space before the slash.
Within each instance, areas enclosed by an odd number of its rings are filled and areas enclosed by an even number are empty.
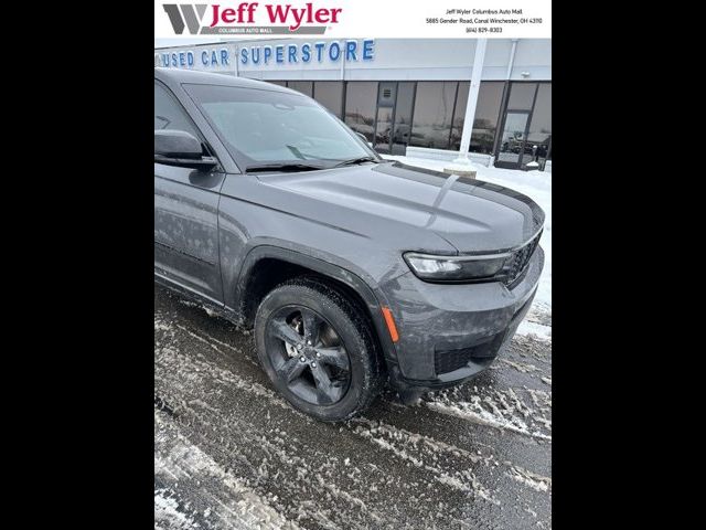
<svg viewBox="0 0 706 530">
<path fill-rule="evenodd" d="M 370 326 L 344 295 L 320 280 L 301 277 L 275 287 L 257 309 L 255 340 L 277 391 L 318 420 L 359 415 L 382 388 Z"/>
</svg>

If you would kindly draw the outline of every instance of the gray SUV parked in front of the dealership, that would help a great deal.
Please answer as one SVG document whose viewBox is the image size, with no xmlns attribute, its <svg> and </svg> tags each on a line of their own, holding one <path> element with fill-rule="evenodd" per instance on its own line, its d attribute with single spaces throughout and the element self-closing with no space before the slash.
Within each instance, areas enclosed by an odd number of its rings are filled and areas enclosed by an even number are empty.
<svg viewBox="0 0 706 530">
<path fill-rule="evenodd" d="M 383 160 L 314 100 L 154 70 L 154 278 L 243 327 L 324 421 L 486 369 L 534 297 L 544 212 Z"/>
</svg>

